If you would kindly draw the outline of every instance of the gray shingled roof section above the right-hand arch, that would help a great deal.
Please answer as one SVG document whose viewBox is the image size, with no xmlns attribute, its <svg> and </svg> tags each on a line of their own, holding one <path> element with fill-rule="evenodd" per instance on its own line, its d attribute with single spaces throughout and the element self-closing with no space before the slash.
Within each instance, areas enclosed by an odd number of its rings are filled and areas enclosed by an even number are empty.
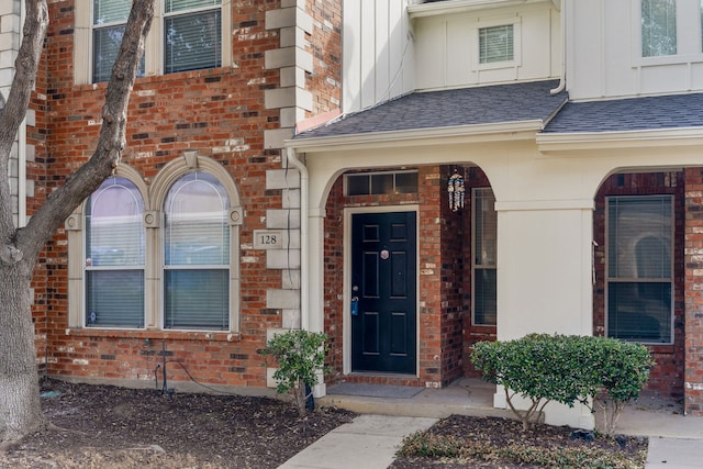
<svg viewBox="0 0 703 469">
<path fill-rule="evenodd" d="M 625 132 L 703 126 L 703 93 L 569 102 L 544 133 Z"/>
</svg>

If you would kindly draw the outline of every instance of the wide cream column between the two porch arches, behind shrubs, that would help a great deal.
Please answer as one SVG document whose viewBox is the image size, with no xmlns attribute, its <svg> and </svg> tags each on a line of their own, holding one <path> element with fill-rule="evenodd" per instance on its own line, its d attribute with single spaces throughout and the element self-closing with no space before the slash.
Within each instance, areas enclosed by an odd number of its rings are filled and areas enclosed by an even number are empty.
<svg viewBox="0 0 703 469">
<path fill-rule="evenodd" d="M 496 202 L 498 338 L 592 335 L 593 200 Z M 495 406 L 506 406 L 499 387 Z M 592 428 L 588 407 L 550 403 L 545 422 Z"/>
</svg>

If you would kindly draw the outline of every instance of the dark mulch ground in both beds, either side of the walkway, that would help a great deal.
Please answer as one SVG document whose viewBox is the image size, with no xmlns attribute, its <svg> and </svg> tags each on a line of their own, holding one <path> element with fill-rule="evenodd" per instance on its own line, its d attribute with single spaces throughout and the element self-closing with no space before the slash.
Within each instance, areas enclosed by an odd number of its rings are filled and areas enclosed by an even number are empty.
<svg viewBox="0 0 703 469">
<path fill-rule="evenodd" d="M 317 407 L 300 417 L 292 403 L 269 398 L 212 393 L 166 397 L 155 389 L 53 380 L 44 381 L 42 391 L 44 412 L 58 428 L 30 435 L 0 453 L 0 468 L 276 468 L 355 416 Z M 520 423 L 490 417 L 453 415 L 429 432 L 456 437 L 469 446 L 533 445 L 547 451 L 573 447 L 580 453 L 602 448 L 627 459 L 641 459 L 647 448 L 646 438 L 590 442 L 573 438 L 570 428 L 548 425 L 523 435 Z M 539 467 L 471 459 L 399 457 L 391 468 Z"/>
</svg>

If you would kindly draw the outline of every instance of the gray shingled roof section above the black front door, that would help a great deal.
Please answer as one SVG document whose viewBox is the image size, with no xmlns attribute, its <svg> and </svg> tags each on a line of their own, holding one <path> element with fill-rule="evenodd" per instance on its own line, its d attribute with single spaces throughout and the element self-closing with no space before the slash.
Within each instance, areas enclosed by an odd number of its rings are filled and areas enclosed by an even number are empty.
<svg viewBox="0 0 703 469">
<path fill-rule="evenodd" d="M 520 121 L 546 123 L 568 99 L 566 92 L 550 94 L 557 85 L 549 80 L 414 92 L 302 132 L 295 139 Z"/>
</svg>

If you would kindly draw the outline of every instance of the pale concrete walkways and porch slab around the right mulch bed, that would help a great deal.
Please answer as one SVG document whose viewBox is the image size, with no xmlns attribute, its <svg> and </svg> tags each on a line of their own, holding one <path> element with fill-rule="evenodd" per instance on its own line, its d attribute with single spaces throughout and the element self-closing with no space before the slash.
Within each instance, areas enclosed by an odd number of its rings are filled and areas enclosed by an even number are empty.
<svg viewBox="0 0 703 469">
<path fill-rule="evenodd" d="M 403 437 L 431 427 L 450 414 L 510 416 L 494 409 L 494 388 L 473 379 L 426 389 L 411 399 L 327 395 L 335 405 L 361 415 L 286 461 L 281 469 L 386 469 Z M 703 417 L 683 416 L 661 400 L 640 398 L 626 407 L 617 432 L 649 437 L 646 469 L 703 468 Z"/>
</svg>

